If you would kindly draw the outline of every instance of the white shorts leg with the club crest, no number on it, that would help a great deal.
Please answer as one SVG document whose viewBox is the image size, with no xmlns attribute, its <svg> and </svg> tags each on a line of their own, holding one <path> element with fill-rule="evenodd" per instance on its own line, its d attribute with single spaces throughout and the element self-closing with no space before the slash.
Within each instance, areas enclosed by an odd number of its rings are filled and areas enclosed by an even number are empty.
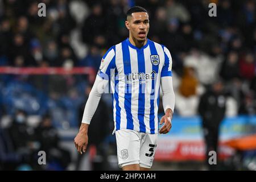
<svg viewBox="0 0 256 182">
<path fill-rule="evenodd" d="M 118 166 L 139 164 L 140 136 L 137 131 L 118 130 L 115 131 L 117 140 Z"/>
</svg>

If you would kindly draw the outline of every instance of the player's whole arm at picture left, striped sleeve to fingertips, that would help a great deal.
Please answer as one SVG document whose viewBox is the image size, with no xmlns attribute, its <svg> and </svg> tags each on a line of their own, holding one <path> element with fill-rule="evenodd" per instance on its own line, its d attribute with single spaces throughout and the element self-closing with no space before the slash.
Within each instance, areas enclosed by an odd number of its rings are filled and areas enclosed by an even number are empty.
<svg viewBox="0 0 256 182">
<path fill-rule="evenodd" d="M 82 154 L 82 152 L 85 152 L 86 150 L 86 146 L 88 144 L 88 128 L 90 125 L 90 121 L 98 107 L 98 103 L 100 102 L 102 93 L 104 93 L 105 88 L 108 88 L 108 82 L 111 76 L 110 73 L 114 68 L 115 48 L 111 47 L 102 57 L 100 69 L 97 73 L 96 80 L 93 84 L 92 90 L 85 105 L 79 133 L 74 139 L 77 152 L 79 152 L 80 154 Z"/>
</svg>

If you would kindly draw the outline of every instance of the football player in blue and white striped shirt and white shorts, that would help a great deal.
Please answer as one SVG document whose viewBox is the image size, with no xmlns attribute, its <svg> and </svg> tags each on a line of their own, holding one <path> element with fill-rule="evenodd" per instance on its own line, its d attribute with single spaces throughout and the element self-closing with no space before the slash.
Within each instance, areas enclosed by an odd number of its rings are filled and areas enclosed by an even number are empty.
<svg viewBox="0 0 256 182">
<path fill-rule="evenodd" d="M 172 58 L 166 47 L 147 39 L 150 24 L 143 7 L 134 6 L 127 11 L 125 26 L 129 38 L 111 47 L 102 57 L 75 146 L 81 154 L 85 152 L 90 120 L 110 81 L 118 166 L 123 170 L 148 170 L 154 160 L 158 133 L 166 134 L 172 127 L 175 104 Z M 159 122 L 160 85 L 165 115 Z M 160 129 L 159 123 L 164 123 Z"/>
</svg>

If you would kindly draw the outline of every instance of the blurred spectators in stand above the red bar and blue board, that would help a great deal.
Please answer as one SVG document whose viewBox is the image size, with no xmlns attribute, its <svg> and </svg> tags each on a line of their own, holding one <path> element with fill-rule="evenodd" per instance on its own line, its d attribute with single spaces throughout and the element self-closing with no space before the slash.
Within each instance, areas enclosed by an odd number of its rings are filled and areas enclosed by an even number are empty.
<svg viewBox="0 0 256 182">
<path fill-rule="evenodd" d="M 230 96 L 227 114 L 255 114 L 255 1 L 40 2 L 46 17 L 38 16 L 39 1 L 0 1 L 0 65 L 97 71 L 106 49 L 128 36 L 126 11 L 139 5 L 150 14 L 148 38 L 170 49 L 177 114 L 197 114 L 199 96 L 219 79 Z M 211 2 L 217 16 L 208 15 Z"/>
</svg>

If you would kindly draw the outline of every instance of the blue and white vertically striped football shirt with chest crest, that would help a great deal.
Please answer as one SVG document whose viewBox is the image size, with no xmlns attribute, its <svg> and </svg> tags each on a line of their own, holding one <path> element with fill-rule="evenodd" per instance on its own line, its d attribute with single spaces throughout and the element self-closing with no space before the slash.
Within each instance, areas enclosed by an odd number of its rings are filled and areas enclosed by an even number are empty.
<svg viewBox="0 0 256 182">
<path fill-rule="evenodd" d="M 105 53 L 98 76 L 110 80 L 114 132 L 158 133 L 160 78 L 172 76 L 171 69 L 168 49 L 149 39 L 141 48 L 126 39 Z"/>
</svg>

